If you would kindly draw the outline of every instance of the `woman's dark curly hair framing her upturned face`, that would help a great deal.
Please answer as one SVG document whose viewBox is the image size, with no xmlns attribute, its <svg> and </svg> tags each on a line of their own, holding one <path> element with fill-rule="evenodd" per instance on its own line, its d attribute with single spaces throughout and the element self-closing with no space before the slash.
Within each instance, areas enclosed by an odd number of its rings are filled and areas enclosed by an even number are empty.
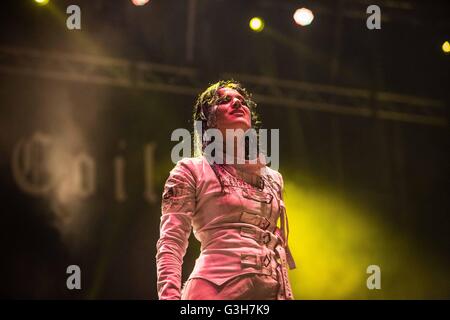
<svg viewBox="0 0 450 320">
<path fill-rule="evenodd" d="M 219 102 L 219 89 L 230 88 L 239 92 L 244 98 L 247 107 L 250 109 L 252 128 L 258 130 L 261 127 L 261 121 L 259 120 L 258 113 L 256 112 L 256 103 L 252 100 L 252 95 L 235 80 L 220 80 L 214 84 L 211 84 L 205 91 L 203 91 L 197 98 L 193 110 L 193 121 L 202 122 L 201 136 L 195 131 L 194 128 L 194 142 L 197 142 L 198 146 L 201 146 L 201 150 L 195 150 L 196 155 L 201 155 L 205 149 L 207 143 L 203 141 L 203 135 L 206 130 L 216 127 L 216 114 L 213 107 Z"/>
</svg>

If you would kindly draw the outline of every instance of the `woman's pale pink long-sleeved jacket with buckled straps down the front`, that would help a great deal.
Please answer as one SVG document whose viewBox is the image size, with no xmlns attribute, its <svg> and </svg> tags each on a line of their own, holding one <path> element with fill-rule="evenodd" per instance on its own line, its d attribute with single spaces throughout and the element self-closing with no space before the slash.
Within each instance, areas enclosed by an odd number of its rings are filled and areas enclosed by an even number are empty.
<svg viewBox="0 0 450 320">
<path fill-rule="evenodd" d="M 287 246 L 282 190 L 281 174 L 267 166 L 210 165 L 203 156 L 180 160 L 163 191 L 156 246 L 159 298 L 180 299 L 192 228 L 201 253 L 190 279 L 221 285 L 242 274 L 278 272 L 280 298 L 293 299 L 286 265 L 295 268 L 295 263 Z"/>
</svg>

